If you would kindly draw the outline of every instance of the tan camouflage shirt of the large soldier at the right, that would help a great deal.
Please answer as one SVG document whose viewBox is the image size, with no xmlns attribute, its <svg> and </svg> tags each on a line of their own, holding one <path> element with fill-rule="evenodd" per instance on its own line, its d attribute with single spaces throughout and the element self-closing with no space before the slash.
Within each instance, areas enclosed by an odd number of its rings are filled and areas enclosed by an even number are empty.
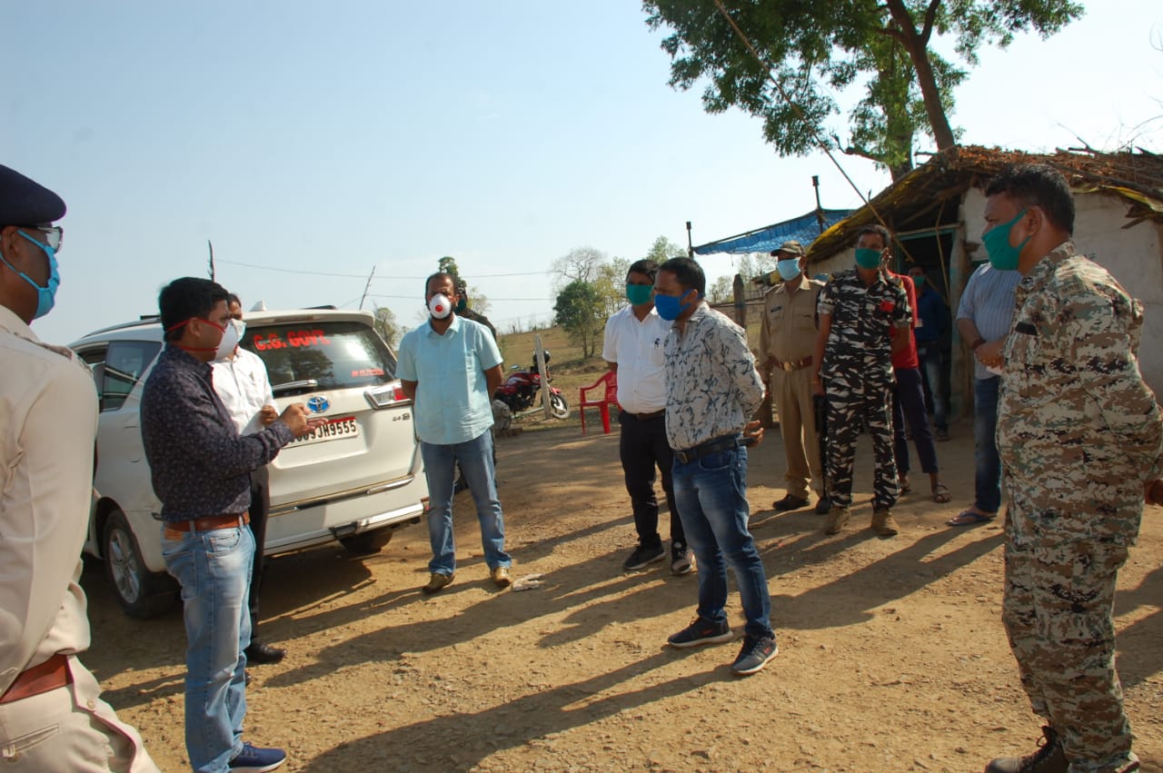
<svg viewBox="0 0 1163 773">
<path fill-rule="evenodd" d="M 1134 544 L 1163 425 L 1139 372 L 1142 305 L 1065 242 L 1022 278 L 1005 345 L 998 451 L 1014 544 Z"/>
</svg>

